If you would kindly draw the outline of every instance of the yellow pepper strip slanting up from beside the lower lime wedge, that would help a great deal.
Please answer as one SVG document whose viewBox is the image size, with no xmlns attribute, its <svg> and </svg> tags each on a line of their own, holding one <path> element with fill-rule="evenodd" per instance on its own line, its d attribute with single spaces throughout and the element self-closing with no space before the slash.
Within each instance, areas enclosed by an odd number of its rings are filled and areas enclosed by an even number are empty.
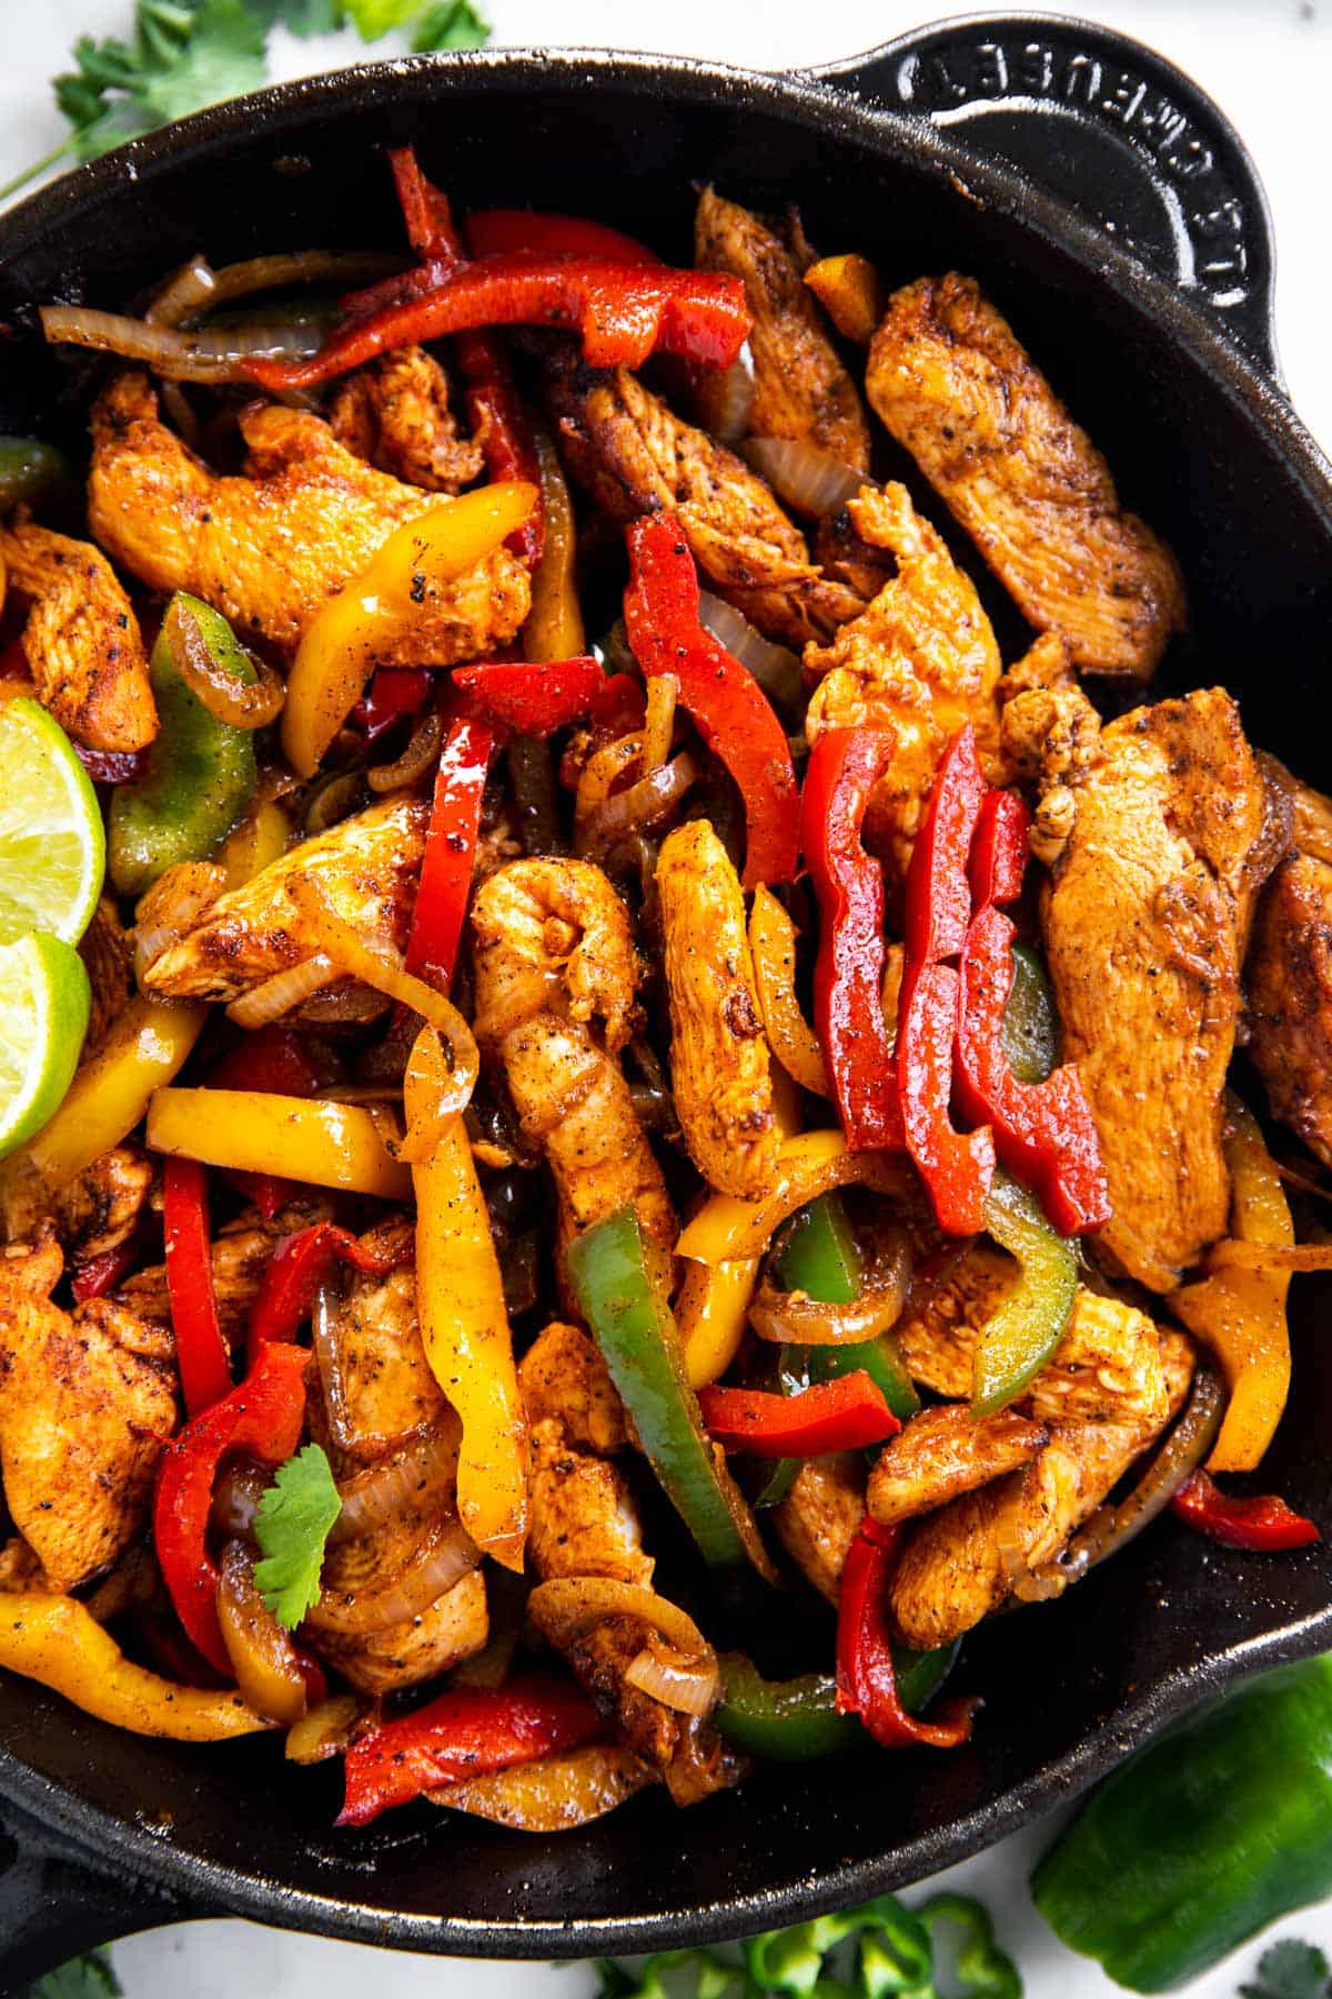
<svg viewBox="0 0 1332 1999">
<path fill-rule="evenodd" d="M 134 1129 L 154 1089 L 182 1067 L 206 1017 L 200 1000 L 132 1000 L 74 1075 L 56 1115 L 10 1165 L 34 1167 L 50 1187 L 78 1179 Z"/>
</svg>

